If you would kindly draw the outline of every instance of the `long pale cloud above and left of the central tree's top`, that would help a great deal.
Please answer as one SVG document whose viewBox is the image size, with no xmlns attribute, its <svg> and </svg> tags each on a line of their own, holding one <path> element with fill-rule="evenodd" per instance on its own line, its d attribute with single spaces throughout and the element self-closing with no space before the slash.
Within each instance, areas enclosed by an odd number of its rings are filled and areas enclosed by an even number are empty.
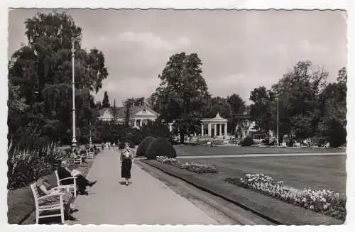
<svg viewBox="0 0 355 232">
<path fill-rule="evenodd" d="M 168 41 L 151 32 L 136 33 L 133 31 L 119 33 L 117 39 L 119 43 L 138 43 L 143 45 L 144 48 L 151 50 L 175 50 L 181 47 L 187 47 L 191 43 L 186 37 Z"/>
</svg>

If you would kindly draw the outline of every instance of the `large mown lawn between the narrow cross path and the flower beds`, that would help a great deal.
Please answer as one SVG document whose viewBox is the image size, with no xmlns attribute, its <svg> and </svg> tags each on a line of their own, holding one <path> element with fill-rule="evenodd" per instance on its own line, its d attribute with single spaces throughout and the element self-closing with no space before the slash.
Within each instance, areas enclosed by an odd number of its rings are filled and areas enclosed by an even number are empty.
<svg viewBox="0 0 355 232">
<path fill-rule="evenodd" d="M 340 194 L 346 192 L 346 155 L 196 158 L 179 161 L 217 165 L 219 170 L 217 175 L 204 174 L 211 179 L 263 173 L 298 189 L 329 189 Z"/>
</svg>

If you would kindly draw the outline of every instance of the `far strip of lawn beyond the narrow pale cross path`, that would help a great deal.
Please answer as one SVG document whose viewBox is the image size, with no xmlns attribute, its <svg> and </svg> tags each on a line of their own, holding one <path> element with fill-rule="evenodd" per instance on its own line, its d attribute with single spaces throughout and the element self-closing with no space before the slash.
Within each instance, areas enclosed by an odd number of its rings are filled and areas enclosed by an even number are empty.
<svg viewBox="0 0 355 232">
<path fill-rule="evenodd" d="M 178 156 L 182 155 L 244 155 L 290 153 L 345 153 L 345 148 L 257 148 L 240 146 L 206 147 L 204 145 L 175 145 Z"/>
</svg>

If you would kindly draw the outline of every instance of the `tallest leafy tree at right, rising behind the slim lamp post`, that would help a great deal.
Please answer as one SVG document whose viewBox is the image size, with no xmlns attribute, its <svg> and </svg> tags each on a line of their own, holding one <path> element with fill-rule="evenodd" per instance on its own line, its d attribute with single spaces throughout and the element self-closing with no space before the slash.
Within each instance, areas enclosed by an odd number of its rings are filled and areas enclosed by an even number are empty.
<svg viewBox="0 0 355 232">
<path fill-rule="evenodd" d="M 273 85 L 279 99 L 280 136 L 303 139 L 315 135 L 320 121 L 317 105 L 328 76 L 324 70 L 314 70 L 312 62 L 300 61 Z"/>
</svg>

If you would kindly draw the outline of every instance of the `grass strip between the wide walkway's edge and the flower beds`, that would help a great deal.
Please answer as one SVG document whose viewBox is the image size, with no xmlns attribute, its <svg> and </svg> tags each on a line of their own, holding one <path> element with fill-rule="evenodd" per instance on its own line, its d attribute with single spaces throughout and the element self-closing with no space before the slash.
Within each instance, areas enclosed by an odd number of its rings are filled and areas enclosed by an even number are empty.
<svg viewBox="0 0 355 232">
<path fill-rule="evenodd" d="M 178 167 L 162 164 L 156 160 L 141 160 L 141 162 L 183 179 L 199 189 L 222 197 L 273 223 L 283 225 L 337 225 L 344 223 L 332 217 L 258 194 L 249 189 L 237 187 L 234 184 L 224 182 L 223 179 L 210 178 L 211 174 L 204 175 L 188 172 Z"/>
</svg>

